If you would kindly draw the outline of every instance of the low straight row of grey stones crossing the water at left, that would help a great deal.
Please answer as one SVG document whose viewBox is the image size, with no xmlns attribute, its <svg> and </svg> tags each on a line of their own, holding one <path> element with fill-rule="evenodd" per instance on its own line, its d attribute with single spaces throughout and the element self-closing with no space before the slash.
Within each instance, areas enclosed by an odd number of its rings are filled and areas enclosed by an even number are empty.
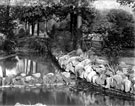
<svg viewBox="0 0 135 106">
<path fill-rule="evenodd" d="M 17 87 L 17 86 L 40 86 L 40 85 L 67 85 L 73 84 L 70 79 L 70 74 L 66 72 L 61 73 L 48 73 L 41 76 L 41 73 L 26 75 L 21 73 L 17 76 L 1 77 L 1 87 Z"/>
</svg>

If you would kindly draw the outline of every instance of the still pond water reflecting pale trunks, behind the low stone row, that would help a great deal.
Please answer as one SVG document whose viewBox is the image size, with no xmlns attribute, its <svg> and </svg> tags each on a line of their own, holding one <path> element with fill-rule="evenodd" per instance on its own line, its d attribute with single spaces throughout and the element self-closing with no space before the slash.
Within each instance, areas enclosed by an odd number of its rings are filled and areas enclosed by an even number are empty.
<svg viewBox="0 0 135 106">
<path fill-rule="evenodd" d="M 54 71 L 55 67 L 48 61 L 36 62 L 19 56 L 0 61 L 0 77 L 14 76 L 19 73 L 26 73 L 26 75 L 42 73 L 44 75 Z"/>
</svg>

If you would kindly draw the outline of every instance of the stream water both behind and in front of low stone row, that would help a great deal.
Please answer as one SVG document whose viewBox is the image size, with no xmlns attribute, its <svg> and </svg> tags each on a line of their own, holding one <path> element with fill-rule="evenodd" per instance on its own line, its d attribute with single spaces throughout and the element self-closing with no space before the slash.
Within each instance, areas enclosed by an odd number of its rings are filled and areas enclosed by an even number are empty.
<svg viewBox="0 0 135 106">
<path fill-rule="evenodd" d="M 12 56 L 0 60 L 0 72 L 6 75 L 25 72 L 27 75 L 40 72 L 42 75 L 55 72 L 57 67 L 44 56 Z M 2 76 L 2 73 L 0 73 Z M 134 106 L 135 101 L 119 97 L 109 97 L 96 91 L 75 91 L 70 87 L 46 88 L 4 88 L 0 89 L 0 106 L 14 106 L 16 103 L 47 106 Z"/>
</svg>

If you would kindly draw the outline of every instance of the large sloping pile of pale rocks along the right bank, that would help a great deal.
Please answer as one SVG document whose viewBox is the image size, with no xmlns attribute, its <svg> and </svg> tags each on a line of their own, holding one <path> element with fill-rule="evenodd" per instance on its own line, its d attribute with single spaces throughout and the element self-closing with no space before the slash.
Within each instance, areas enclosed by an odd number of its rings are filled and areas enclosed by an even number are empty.
<svg viewBox="0 0 135 106">
<path fill-rule="evenodd" d="M 135 94 L 135 66 L 121 62 L 112 67 L 107 60 L 95 55 L 90 57 L 63 55 L 57 58 L 67 76 L 74 73 L 76 77 L 95 85 Z"/>
</svg>

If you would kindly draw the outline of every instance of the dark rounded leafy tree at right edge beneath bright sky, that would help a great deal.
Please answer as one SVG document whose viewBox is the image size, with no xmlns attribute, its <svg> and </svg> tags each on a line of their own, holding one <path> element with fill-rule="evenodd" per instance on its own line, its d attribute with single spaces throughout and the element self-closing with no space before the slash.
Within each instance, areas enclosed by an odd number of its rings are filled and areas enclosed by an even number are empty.
<svg viewBox="0 0 135 106">
<path fill-rule="evenodd" d="M 109 22 L 113 24 L 109 31 L 110 39 L 114 39 L 124 47 L 133 46 L 135 33 L 133 15 L 122 9 L 113 9 L 107 17 Z"/>
</svg>

